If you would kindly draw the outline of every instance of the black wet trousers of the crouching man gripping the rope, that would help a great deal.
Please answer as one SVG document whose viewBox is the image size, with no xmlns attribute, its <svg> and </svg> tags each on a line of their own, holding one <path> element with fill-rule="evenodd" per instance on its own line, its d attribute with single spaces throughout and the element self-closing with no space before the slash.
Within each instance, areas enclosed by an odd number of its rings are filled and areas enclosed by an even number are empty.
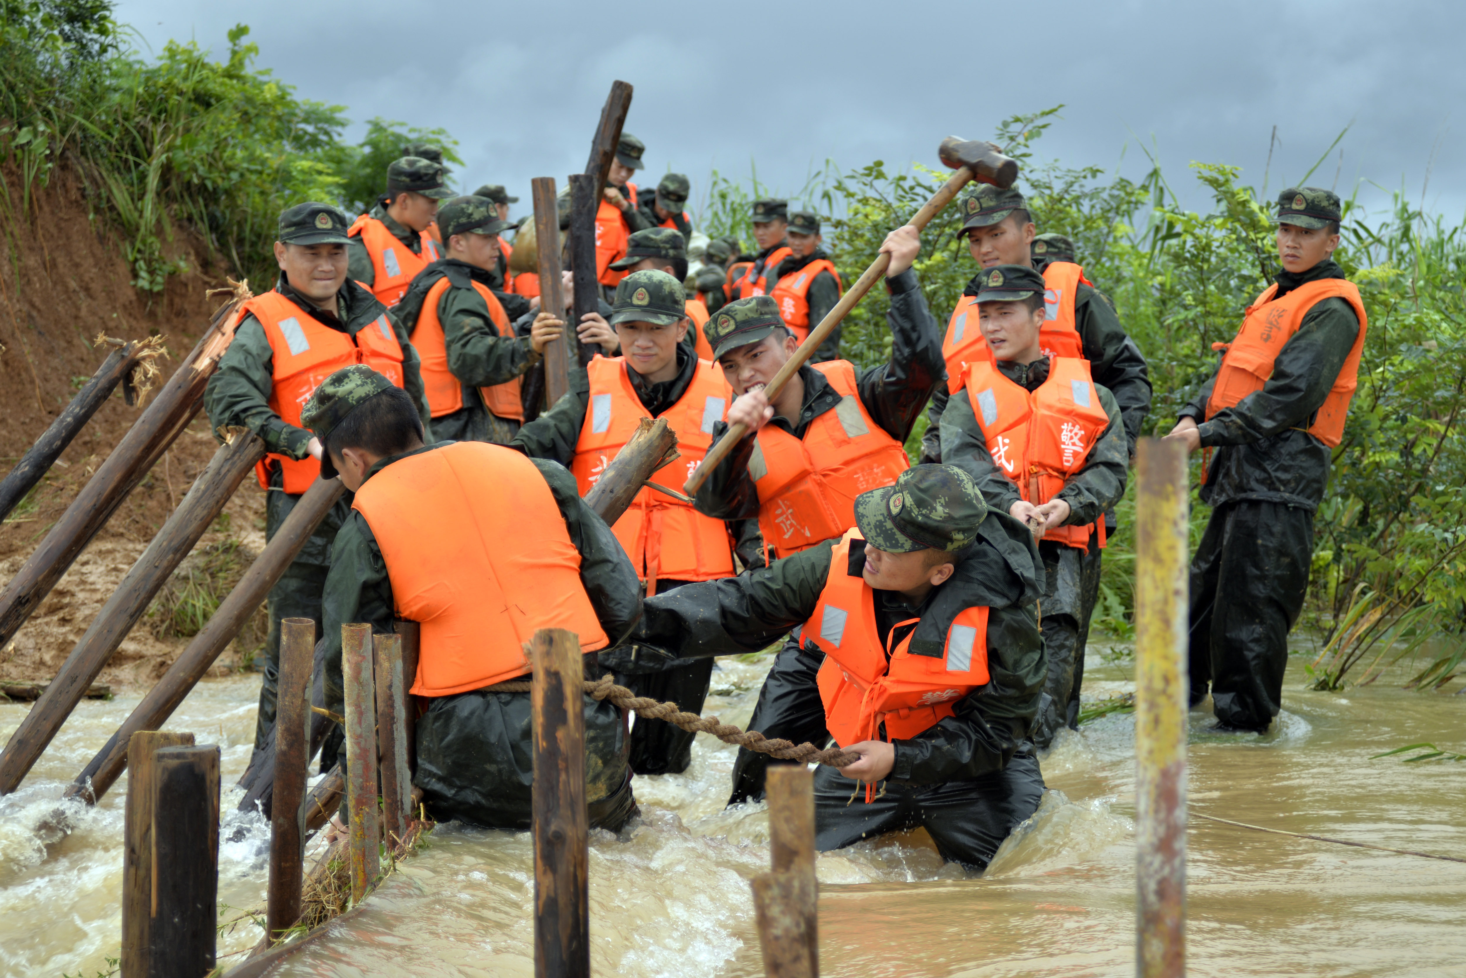
<svg viewBox="0 0 1466 978">
<path fill-rule="evenodd" d="M 922 827 L 943 859 L 985 869 L 1042 799 L 1044 776 L 1028 751 L 1023 748 L 1001 771 L 970 782 L 919 787 L 883 782 L 871 802 L 863 783 L 821 764 L 815 768 L 815 848 L 843 849 L 887 831 Z"/>
</svg>

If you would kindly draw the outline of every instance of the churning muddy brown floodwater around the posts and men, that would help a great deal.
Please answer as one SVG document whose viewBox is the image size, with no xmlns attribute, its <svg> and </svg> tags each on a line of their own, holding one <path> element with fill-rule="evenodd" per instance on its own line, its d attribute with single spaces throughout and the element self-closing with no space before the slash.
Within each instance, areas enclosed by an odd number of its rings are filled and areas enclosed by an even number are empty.
<svg viewBox="0 0 1466 978">
<path fill-rule="evenodd" d="M 1086 698 L 1132 689 L 1091 648 Z M 1466 764 L 1372 754 L 1419 740 L 1466 749 L 1466 696 L 1390 685 L 1319 694 L 1290 663 L 1265 738 L 1208 735 L 1192 713 L 1196 811 L 1290 831 L 1466 855 Z M 723 661 L 707 713 L 743 724 L 768 660 Z M 249 757 L 258 679 L 199 686 L 170 729 L 223 748 L 224 784 Z M 0 972 L 86 975 L 117 955 L 126 783 L 94 809 L 56 799 L 138 696 L 85 702 L 16 795 L 0 801 Z M 0 705 L 0 739 L 28 710 Z M 3 742 L 3 740 L 0 740 Z M 825 975 L 1135 974 L 1135 724 L 1111 714 L 1042 761 L 1050 790 L 982 877 L 943 867 L 922 834 L 819 856 Z M 600 975 L 761 975 L 748 878 L 768 867 L 767 815 L 724 811 L 734 751 L 698 736 L 683 776 L 636 780 L 642 818 L 591 840 L 592 968 Z M 235 795 L 237 798 L 237 795 Z M 859 804 L 855 801 L 853 804 Z M 220 919 L 262 903 L 268 828 L 230 814 Z M 1189 974 L 1463 975 L 1466 865 L 1193 820 Z M 441 826 L 334 938 L 279 975 L 532 975 L 525 834 Z M 220 955 L 251 947 L 248 918 Z M 239 960 L 226 959 L 226 960 Z"/>
</svg>

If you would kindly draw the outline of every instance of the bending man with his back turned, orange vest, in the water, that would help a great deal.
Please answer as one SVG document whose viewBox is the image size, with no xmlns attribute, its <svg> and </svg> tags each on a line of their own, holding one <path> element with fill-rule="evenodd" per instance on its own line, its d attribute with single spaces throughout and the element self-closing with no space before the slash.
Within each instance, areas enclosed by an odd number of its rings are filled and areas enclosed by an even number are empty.
<svg viewBox="0 0 1466 978">
<path fill-rule="evenodd" d="M 412 543 L 421 540 L 418 553 L 397 551 L 397 572 L 388 573 L 388 557 L 378 535 L 372 532 L 362 509 L 353 507 L 342 522 L 336 535 L 336 550 L 331 572 L 325 579 L 324 611 L 324 689 L 325 705 L 333 713 L 345 713 L 342 688 L 342 625 L 369 623 L 372 632 L 391 632 L 393 620 L 403 600 L 410 595 L 394 595 L 393 579 L 399 573 L 415 569 L 416 581 L 437 567 L 453 578 L 444 584 L 446 591 L 456 592 L 500 592 L 496 581 L 462 575 L 481 573 L 481 562 L 468 567 L 456 566 L 452 553 L 444 550 L 443 522 L 465 519 L 460 513 L 474 512 L 465 503 L 465 496 L 476 500 L 500 500 L 506 485 L 516 493 L 532 491 L 525 484 L 525 459 L 519 455 L 484 444 L 456 444 L 452 441 L 427 446 L 422 443 L 422 428 L 410 409 L 387 380 L 366 367 L 350 367 L 328 377 L 311 396 L 302 412 L 302 421 L 311 425 L 325 446 L 321 460 L 323 475 L 331 477 L 340 471 L 340 478 L 349 490 L 358 493 L 372 479 L 383 478 L 384 471 L 394 465 L 412 465 L 409 459 L 446 450 L 454 453 L 452 471 L 460 477 L 462 493 L 434 496 L 432 487 L 424 487 L 422 509 L 415 515 L 428 532 L 421 532 Z M 465 449 L 474 452 L 463 452 Z M 501 478 L 475 484 L 479 468 L 463 462 L 478 460 L 479 466 L 500 471 Z M 567 535 L 579 553 L 579 584 L 589 610 L 605 633 L 608 644 L 623 639 L 641 613 L 641 587 L 636 572 L 616 543 L 610 528 L 595 515 L 576 491 L 575 478 L 559 465 L 532 462 L 538 477 L 544 479 L 553 506 L 564 521 L 561 526 L 537 532 Z M 535 472 L 529 474 L 531 482 Z M 388 477 L 390 479 L 390 477 Z M 437 484 L 434 484 L 437 485 Z M 380 488 L 380 487 L 378 487 Z M 365 494 L 364 497 L 365 499 Z M 374 499 L 380 500 L 381 496 Z M 390 497 L 388 497 L 390 499 Z M 547 500 L 550 501 L 550 500 Z M 494 503 L 487 503 L 493 506 Z M 375 510 L 381 512 L 381 510 Z M 390 515 L 390 509 L 386 510 Z M 399 510 L 400 512 L 400 510 Z M 443 516 L 441 513 L 446 513 Z M 469 521 L 471 522 L 471 521 Z M 556 521 L 559 522 L 559 521 Z M 384 529 L 383 522 L 377 522 Z M 437 532 L 434 532 L 437 531 Z M 465 526 L 465 534 L 475 534 L 474 526 Z M 497 537 L 476 541 L 484 551 L 491 551 L 491 566 L 515 565 L 515 537 Z M 399 541 L 400 545 L 400 541 Z M 519 544 L 523 545 L 523 544 Z M 528 560 L 542 560 L 545 554 L 531 554 Z M 517 565 L 523 566 L 525 560 Z M 428 567 L 427 572 L 422 567 Z M 557 595 L 559 609 L 573 607 Z M 441 613 L 453 622 L 453 609 Z M 525 610 L 534 622 L 535 610 Z M 452 629 L 449 629 L 452 630 Z M 449 636 L 452 639 L 452 636 Z M 447 650 L 449 654 L 460 650 Z M 424 667 L 431 666 L 438 648 L 428 645 L 428 629 L 424 628 L 416 686 L 425 685 Z M 520 655 L 517 648 L 485 648 L 485 660 L 513 660 Z M 585 655 L 586 677 L 597 679 L 603 670 L 595 654 Z M 525 670 L 528 673 L 528 669 Z M 410 679 L 409 679 L 410 680 Z M 491 828 L 529 828 L 532 771 L 528 758 L 532 752 L 532 727 L 529 694 L 485 692 L 472 689 L 460 694 L 427 692 L 427 711 L 416 720 L 418 767 L 415 783 L 424 789 L 428 809 L 438 820 L 459 820 Z M 630 818 L 636 805 L 632 798 L 630 771 L 626 765 L 626 717 L 610 702 L 585 696 L 585 755 L 586 755 L 586 802 L 592 827 L 616 830 Z"/>
</svg>

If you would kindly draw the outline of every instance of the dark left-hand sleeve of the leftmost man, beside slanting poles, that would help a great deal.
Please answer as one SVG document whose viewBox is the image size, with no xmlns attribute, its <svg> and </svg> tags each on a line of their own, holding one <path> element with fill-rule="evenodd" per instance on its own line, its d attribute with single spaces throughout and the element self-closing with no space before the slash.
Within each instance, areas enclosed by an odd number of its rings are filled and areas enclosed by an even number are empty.
<svg viewBox="0 0 1466 978">
<path fill-rule="evenodd" d="M 258 434 L 276 455 L 303 459 L 311 433 L 289 425 L 270 406 L 274 350 L 265 339 L 259 320 L 246 315 L 235 331 L 229 349 L 218 359 L 218 368 L 204 389 L 204 411 L 217 433 L 223 427 L 240 425 Z"/>
</svg>

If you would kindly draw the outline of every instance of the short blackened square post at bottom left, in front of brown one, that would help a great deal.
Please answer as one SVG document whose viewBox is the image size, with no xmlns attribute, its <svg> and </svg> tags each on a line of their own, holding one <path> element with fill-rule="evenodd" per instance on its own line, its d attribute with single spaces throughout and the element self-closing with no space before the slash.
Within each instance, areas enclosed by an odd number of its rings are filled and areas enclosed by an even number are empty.
<svg viewBox="0 0 1466 978">
<path fill-rule="evenodd" d="M 148 978 L 214 969 L 218 921 L 218 748 L 154 755 L 152 933 Z"/>
</svg>

